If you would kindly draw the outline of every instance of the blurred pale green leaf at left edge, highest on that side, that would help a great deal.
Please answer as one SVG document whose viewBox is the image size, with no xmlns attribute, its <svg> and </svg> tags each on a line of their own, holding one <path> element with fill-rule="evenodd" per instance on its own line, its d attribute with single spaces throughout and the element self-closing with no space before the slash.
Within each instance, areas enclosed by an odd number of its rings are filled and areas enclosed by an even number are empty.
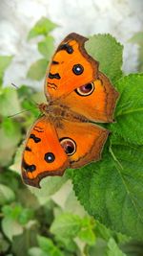
<svg viewBox="0 0 143 256">
<path fill-rule="evenodd" d="M 0 86 L 3 83 L 4 72 L 10 65 L 12 56 L 0 56 Z"/>
</svg>

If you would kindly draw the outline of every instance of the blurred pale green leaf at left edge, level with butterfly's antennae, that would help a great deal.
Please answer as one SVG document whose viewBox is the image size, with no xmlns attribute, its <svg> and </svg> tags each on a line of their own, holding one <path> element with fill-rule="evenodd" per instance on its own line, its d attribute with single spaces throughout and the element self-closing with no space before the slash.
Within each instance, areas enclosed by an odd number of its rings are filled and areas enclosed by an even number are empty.
<svg viewBox="0 0 143 256">
<path fill-rule="evenodd" d="M 0 111 L 2 116 L 10 116 L 20 112 L 17 91 L 7 87 L 0 90 Z"/>
</svg>

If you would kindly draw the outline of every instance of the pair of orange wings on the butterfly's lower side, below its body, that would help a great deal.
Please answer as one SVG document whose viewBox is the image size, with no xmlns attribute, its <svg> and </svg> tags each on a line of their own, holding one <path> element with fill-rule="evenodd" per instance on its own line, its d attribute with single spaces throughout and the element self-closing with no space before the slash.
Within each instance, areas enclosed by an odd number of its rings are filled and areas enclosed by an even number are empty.
<svg viewBox="0 0 143 256">
<path fill-rule="evenodd" d="M 48 175 L 63 175 L 67 168 L 79 168 L 100 159 L 109 131 L 91 123 L 61 120 L 54 125 L 48 117 L 31 128 L 22 159 L 26 184 L 40 188 Z"/>
</svg>

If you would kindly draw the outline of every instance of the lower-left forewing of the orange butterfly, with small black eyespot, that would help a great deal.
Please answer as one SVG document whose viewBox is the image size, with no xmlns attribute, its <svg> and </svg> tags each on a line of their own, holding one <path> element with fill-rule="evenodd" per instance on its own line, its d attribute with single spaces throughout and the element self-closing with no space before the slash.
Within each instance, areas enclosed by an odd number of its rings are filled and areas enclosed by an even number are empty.
<svg viewBox="0 0 143 256">
<path fill-rule="evenodd" d="M 69 159 L 48 117 L 38 119 L 31 128 L 22 159 L 24 182 L 40 187 L 41 178 L 47 175 L 63 175 L 70 165 Z"/>
</svg>

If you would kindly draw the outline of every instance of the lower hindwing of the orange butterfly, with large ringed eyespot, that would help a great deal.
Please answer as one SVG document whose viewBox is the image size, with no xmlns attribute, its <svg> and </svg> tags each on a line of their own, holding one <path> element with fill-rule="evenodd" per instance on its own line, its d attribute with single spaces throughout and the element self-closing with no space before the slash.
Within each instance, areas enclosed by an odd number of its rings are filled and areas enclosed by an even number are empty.
<svg viewBox="0 0 143 256">
<path fill-rule="evenodd" d="M 101 157 L 109 130 L 92 123 L 62 120 L 57 127 L 60 144 L 67 152 L 70 167 L 79 168 Z"/>
</svg>

